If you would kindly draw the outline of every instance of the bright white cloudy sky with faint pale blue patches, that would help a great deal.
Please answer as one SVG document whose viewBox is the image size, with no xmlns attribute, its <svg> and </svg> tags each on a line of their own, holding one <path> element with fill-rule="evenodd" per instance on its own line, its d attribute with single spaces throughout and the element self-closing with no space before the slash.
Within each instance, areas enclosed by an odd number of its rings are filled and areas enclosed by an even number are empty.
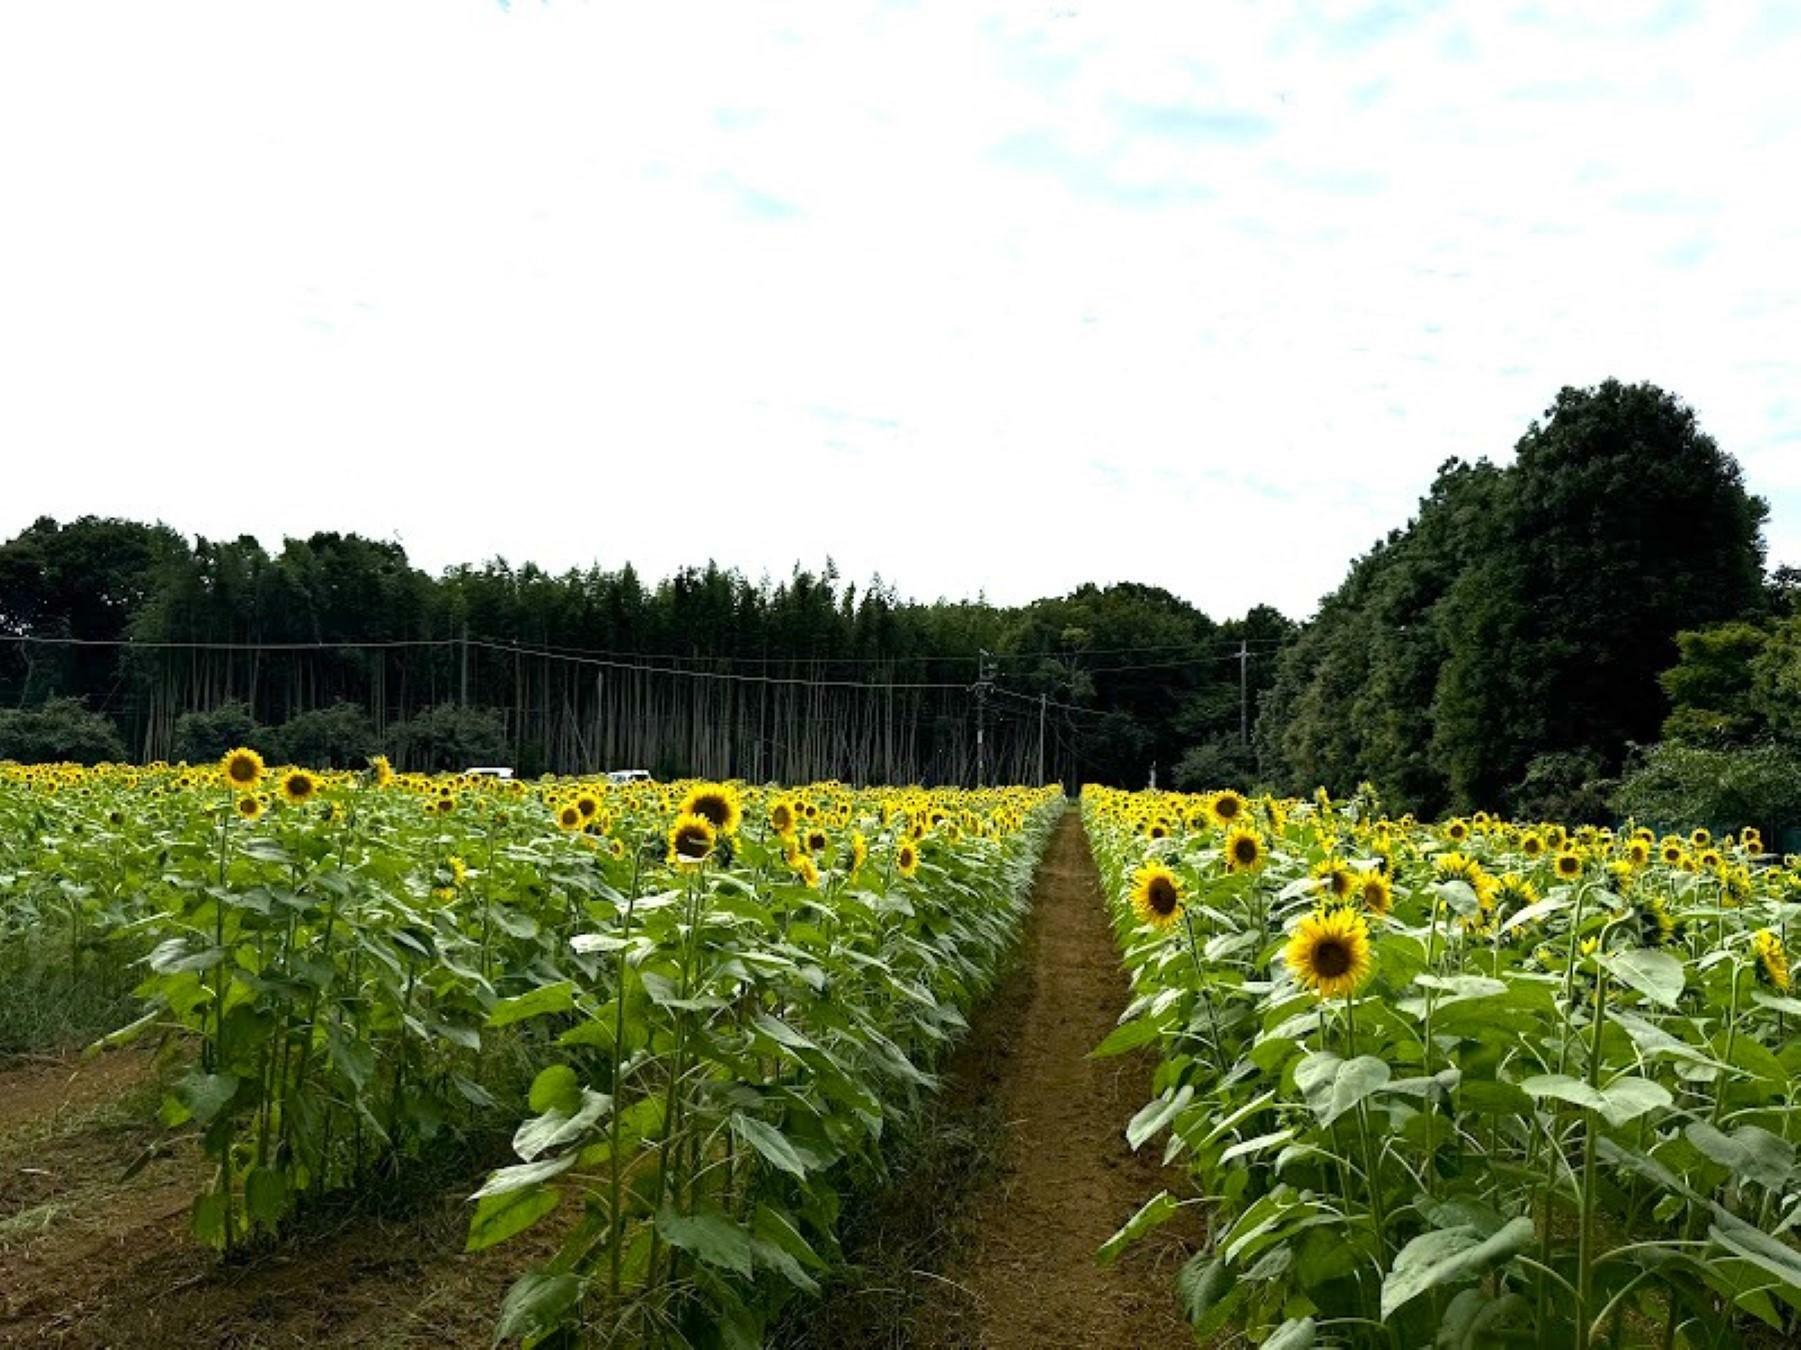
<svg viewBox="0 0 1801 1350">
<path fill-rule="evenodd" d="M 0 536 L 1311 614 L 1561 385 L 1801 562 L 1801 4 L 0 7 Z"/>
</svg>

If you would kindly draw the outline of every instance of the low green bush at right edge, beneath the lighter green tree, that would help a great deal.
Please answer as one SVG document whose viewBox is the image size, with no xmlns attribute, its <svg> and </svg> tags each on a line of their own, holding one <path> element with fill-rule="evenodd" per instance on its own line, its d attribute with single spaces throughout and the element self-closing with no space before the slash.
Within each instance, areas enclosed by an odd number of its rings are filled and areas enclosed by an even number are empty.
<svg viewBox="0 0 1801 1350">
<path fill-rule="evenodd" d="M 1715 751 L 1666 742 L 1630 765 L 1614 806 L 1659 832 L 1754 824 L 1776 841 L 1801 821 L 1801 754 L 1783 745 Z"/>
</svg>

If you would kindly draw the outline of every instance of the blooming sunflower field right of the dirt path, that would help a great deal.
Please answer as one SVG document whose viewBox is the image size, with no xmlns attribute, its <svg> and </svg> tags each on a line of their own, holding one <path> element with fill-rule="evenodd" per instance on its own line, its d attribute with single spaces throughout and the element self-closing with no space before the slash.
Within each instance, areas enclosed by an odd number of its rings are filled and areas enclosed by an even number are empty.
<svg viewBox="0 0 1801 1350">
<path fill-rule="evenodd" d="M 1349 801 L 1088 788 L 1199 1337 L 1801 1343 L 1797 859 Z"/>
</svg>

